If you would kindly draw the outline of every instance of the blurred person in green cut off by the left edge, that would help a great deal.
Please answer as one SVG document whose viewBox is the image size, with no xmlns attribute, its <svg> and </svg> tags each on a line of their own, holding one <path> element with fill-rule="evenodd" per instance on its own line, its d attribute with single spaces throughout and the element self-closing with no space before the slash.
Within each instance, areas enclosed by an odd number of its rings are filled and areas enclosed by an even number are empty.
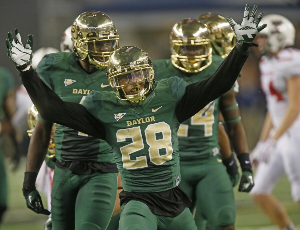
<svg viewBox="0 0 300 230">
<path fill-rule="evenodd" d="M 0 110 L 5 112 L 6 99 L 9 91 L 13 87 L 13 77 L 6 68 L 0 67 Z M 6 112 L 5 112 L 6 113 Z M 10 133 L 13 130 L 10 121 L 1 116 L 0 134 Z M 0 140 L 1 141 L 1 140 Z M 4 167 L 4 159 L 2 154 L 2 147 L 0 146 L 0 223 L 2 216 L 7 209 L 7 181 Z"/>
</svg>

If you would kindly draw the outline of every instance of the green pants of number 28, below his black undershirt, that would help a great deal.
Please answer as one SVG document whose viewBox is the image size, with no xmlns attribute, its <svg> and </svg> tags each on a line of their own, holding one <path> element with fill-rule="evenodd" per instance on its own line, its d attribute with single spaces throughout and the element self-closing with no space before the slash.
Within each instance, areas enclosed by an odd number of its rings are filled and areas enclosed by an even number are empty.
<svg viewBox="0 0 300 230">
<path fill-rule="evenodd" d="M 177 217 L 153 214 L 143 202 L 131 200 L 123 204 L 119 230 L 197 230 L 188 208 Z"/>
</svg>

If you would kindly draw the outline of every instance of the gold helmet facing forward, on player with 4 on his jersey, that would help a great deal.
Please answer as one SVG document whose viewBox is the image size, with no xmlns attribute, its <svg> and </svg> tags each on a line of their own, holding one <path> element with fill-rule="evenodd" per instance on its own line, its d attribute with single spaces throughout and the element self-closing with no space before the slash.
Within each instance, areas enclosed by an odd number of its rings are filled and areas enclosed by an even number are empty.
<svg viewBox="0 0 300 230">
<path fill-rule="evenodd" d="M 211 64 L 211 44 L 206 25 L 187 18 L 177 22 L 170 34 L 171 62 L 187 73 L 197 73 Z"/>
</svg>

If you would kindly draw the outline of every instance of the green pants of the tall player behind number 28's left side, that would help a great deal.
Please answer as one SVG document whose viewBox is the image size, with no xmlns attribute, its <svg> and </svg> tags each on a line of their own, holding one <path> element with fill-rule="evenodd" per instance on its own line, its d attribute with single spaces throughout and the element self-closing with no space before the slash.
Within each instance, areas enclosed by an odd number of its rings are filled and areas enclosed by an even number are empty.
<svg viewBox="0 0 300 230">
<path fill-rule="evenodd" d="M 118 173 L 77 175 L 55 167 L 52 230 L 105 230 L 117 195 Z"/>
</svg>

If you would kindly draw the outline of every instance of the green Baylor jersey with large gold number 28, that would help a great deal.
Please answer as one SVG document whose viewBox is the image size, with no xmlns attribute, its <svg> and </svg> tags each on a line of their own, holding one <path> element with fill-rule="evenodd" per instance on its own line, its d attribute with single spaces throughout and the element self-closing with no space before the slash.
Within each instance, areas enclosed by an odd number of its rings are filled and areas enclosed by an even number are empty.
<svg viewBox="0 0 300 230">
<path fill-rule="evenodd" d="M 175 111 L 187 83 L 170 77 L 155 83 L 139 104 L 114 92 L 91 92 L 83 106 L 100 120 L 128 192 L 159 192 L 180 182 Z"/>
</svg>

